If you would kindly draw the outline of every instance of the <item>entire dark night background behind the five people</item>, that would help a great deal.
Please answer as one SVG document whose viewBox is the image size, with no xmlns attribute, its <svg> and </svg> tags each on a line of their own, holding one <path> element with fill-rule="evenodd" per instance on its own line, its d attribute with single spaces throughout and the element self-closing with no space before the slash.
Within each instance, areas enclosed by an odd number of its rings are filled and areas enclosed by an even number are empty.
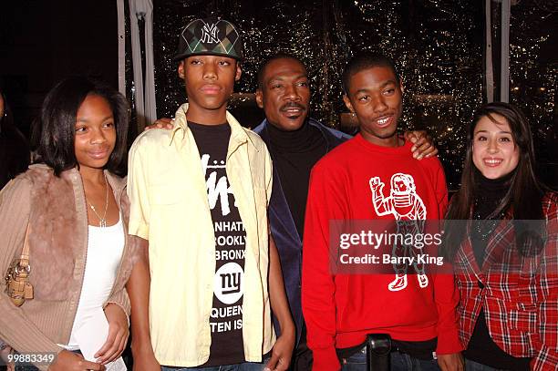
<svg viewBox="0 0 558 371">
<path fill-rule="evenodd" d="M 128 3 L 128 2 L 126 2 Z M 266 55 L 300 57 L 311 77 L 312 116 L 342 126 L 340 73 L 361 49 L 393 57 L 405 86 L 401 129 L 428 129 L 449 180 L 459 186 L 466 126 L 483 101 L 484 2 L 478 0 L 153 0 L 155 83 L 159 117 L 185 100 L 171 61 L 191 19 L 222 15 L 243 30 L 246 60 L 232 102 L 243 125 L 263 119 L 251 93 Z M 531 120 L 540 173 L 558 186 L 556 89 L 558 2 L 520 0 L 511 7 L 511 103 Z M 0 5 L 0 86 L 17 125 L 28 133 L 49 88 L 86 74 L 118 88 L 117 6 L 112 0 L 20 0 Z M 500 5 L 492 2 L 494 76 L 499 71 Z M 128 7 L 126 15 L 128 17 Z M 127 19 L 127 36 L 129 38 Z M 131 54 L 127 47 L 127 91 Z M 499 87 L 499 81 L 495 82 Z M 499 94 L 496 89 L 495 98 Z M 345 121 L 343 121 L 345 122 Z M 135 135 L 132 122 L 131 131 Z"/>
</svg>

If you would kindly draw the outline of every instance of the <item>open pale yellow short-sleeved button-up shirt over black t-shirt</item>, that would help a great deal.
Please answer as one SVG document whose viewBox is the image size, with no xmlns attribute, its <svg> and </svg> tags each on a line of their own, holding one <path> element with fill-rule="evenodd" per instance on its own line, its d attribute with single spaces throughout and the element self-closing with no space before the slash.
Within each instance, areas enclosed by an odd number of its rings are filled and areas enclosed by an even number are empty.
<svg viewBox="0 0 558 371">
<path fill-rule="evenodd" d="M 150 242 L 150 335 L 165 366 L 199 366 L 210 356 L 215 236 L 202 160 L 186 121 L 143 132 L 129 151 L 129 233 Z M 267 289 L 267 204 L 272 162 L 263 140 L 227 112 L 227 178 L 246 231 L 244 356 L 259 362 L 275 335 Z"/>
</svg>

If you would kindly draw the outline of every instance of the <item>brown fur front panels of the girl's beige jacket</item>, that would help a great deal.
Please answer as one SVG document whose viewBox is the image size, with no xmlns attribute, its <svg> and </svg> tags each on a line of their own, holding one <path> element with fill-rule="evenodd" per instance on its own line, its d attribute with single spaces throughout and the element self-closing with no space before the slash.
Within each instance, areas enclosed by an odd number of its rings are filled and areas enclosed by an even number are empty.
<svg viewBox="0 0 558 371">
<path fill-rule="evenodd" d="M 81 274 L 75 268 L 78 264 L 84 269 L 87 249 L 87 206 L 79 171 L 67 170 L 56 177 L 47 166 L 36 165 L 23 177 L 32 183 L 28 240 L 29 277 L 35 296 L 40 300 L 65 300 L 81 284 Z M 108 179 L 120 203 L 125 180 L 109 174 Z M 125 225 L 129 210 L 126 203 L 127 210 L 122 210 Z M 131 263 L 127 265 L 131 269 Z"/>
</svg>

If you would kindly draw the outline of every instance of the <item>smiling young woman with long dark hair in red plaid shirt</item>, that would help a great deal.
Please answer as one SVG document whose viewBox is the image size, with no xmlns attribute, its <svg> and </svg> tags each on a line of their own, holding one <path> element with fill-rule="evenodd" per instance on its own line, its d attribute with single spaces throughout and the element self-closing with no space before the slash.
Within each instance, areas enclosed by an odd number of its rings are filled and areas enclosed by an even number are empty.
<svg viewBox="0 0 558 371">
<path fill-rule="evenodd" d="M 446 235 L 467 370 L 558 369 L 557 203 L 534 175 L 521 110 L 480 108 L 448 213 L 469 222 Z"/>
</svg>

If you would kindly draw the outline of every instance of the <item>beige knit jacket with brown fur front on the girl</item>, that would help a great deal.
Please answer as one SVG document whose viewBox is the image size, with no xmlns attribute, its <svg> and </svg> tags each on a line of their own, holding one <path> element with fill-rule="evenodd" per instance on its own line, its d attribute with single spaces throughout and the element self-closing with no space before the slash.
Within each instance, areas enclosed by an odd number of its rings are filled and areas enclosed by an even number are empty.
<svg viewBox="0 0 558 371">
<path fill-rule="evenodd" d="M 106 304 L 118 304 L 129 315 L 124 284 L 138 256 L 140 239 L 128 235 L 126 180 L 109 172 L 107 179 L 119 204 L 127 236 Z M 33 165 L 0 191 L 3 276 L 21 254 L 27 222 L 31 227 L 29 277 L 35 297 L 16 307 L 5 294 L 5 281 L 0 280 L 0 338 L 21 354 L 58 353 L 63 349 L 57 344 L 67 344 L 74 324 L 88 248 L 87 204 L 77 169 L 64 171 L 58 178 L 46 165 Z"/>
</svg>

